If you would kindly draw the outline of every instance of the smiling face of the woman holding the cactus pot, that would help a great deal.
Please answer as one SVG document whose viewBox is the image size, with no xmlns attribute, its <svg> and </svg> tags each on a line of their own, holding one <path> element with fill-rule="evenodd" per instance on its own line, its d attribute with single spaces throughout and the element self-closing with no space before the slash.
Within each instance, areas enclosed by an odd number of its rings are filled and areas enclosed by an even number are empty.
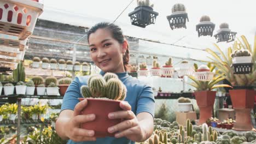
<svg viewBox="0 0 256 144">
<path fill-rule="evenodd" d="M 112 37 L 108 29 L 97 29 L 89 37 L 89 49 L 92 61 L 98 68 L 106 72 L 124 72 L 123 53 L 126 51 L 127 41 L 119 44 Z"/>
</svg>

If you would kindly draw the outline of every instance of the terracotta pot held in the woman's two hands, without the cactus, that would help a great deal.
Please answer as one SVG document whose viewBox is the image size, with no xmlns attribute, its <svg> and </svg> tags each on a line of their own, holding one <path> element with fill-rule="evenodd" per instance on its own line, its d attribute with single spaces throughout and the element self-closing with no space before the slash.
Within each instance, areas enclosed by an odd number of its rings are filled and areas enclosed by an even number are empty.
<svg viewBox="0 0 256 144">
<path fill-rule="evenodd" d="M 80 101 L 84 98 L 79 98 Z M 95 137 L 114 136 L 108 133 L 108 128 L 121 122 L 121 119 L 109 119 L 108 113 L 121 111 L 119 100 L 105 100 L 87 98 L 88 104 L 82 115 L 94 113 L 96 118 L 92 122 L 82 124 L 82 128 L 95 131 Z"/>
</svg>

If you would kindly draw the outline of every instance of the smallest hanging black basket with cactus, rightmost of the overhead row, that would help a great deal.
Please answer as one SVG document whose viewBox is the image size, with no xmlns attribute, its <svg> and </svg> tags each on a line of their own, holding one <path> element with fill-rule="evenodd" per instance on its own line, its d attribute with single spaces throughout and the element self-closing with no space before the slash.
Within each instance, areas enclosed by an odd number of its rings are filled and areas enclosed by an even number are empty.
<svg viewBox="0 0 256 144">
<path fill-rule="evenodd" d="M 214 35 L 214 37 L 217 39 L 217 43 L 223 41 L 229 43 L 230 41 L 235 40 L 236 32 L 231 32 L 228 23 L 222 23 L 219 25 L 219 31 Z"/>
</svg>

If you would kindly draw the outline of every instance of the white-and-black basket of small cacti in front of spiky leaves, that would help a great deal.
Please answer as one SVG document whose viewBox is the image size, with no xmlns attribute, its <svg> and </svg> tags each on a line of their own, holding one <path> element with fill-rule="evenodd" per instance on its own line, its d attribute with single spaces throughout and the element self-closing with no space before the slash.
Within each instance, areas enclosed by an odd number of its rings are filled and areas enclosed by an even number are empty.
<svg viewBox="0 0 256 144">
<path fill-rule="evenodd" d="M 234 74 L 252 73 L 252 54 L 248 50 L 236 50 L 231 57 Z"/>
</svg>

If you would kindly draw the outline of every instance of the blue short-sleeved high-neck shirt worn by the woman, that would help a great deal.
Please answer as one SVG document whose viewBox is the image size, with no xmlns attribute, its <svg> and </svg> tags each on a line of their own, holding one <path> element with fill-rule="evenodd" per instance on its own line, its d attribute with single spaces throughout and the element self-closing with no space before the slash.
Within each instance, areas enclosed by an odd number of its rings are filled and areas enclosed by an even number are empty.
<svg viewBox="0 0 256 144">
<path fill-rule="evenodd" d="M 104 75 L 104 72 L 101 71 L 101 75 Z M 139 81 L 135 77 L 131 77 L 124 73 L 117 73 L 119 79 L 124 83 L 127 88 L 127 94 L 125 101 L 127 101 L 131 105 L 132 111 L 135 115 L 138 115 L 140 112 L 148 112 L 154 117 L 155 110 L 155 100 L 153 95 L 152 87 L 148 86 L 146 83 Z M 75 77 L 71 85 L 69 85 L 64 98 L 63 103 L 61 105 L 62 110 L 74 110 L 75 105 L 79 102 L 78 98 L 82 98 L 80 94 L 80 87 L 83 85 L 87 85 L 89 76 L 79 76 Z M 115 137 L 103 137 L 97 138 L 96 141 L 86 141 L 86 142 L 74 142 L 72 140 L 68 140 L 68 144 L 75 143 L 135 143 L 126 137 L 121 137 L 119 139 Z"/>
</svg>

